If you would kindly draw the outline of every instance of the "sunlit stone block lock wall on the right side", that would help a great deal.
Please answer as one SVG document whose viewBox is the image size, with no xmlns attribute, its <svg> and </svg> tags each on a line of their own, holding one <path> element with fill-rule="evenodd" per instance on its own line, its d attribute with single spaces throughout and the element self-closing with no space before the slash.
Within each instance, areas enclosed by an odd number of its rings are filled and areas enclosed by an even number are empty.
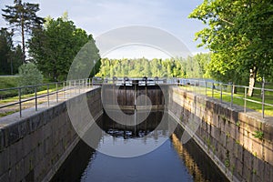
<svg viewBox="0 0 273 182">
<path fill-rule="evenodd" d="M 178 87 L 169 89 L 169 114 L 186 130 L 188 123 L 200 124 L 193 139 L 229 180 L 273 181 L 272 118 L 229 106 Z"/>
</svg>

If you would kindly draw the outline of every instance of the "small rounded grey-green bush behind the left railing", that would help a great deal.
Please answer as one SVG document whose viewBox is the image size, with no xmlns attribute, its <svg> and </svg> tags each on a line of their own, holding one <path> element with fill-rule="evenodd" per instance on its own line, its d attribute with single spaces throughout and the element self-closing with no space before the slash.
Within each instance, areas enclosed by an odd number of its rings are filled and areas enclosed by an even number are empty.
<svg viewBox="0 0 273 182">
<path fill-rule="evenodd" d="M 18 86 L 34 86 L 43 83 L 43 75 L 33 63 L 19 67 Z M 38 89 L 38 88 L 37 88 Z M 35 87 L 22 89 L 23 94 L 35 92 Z"/>
</svg>

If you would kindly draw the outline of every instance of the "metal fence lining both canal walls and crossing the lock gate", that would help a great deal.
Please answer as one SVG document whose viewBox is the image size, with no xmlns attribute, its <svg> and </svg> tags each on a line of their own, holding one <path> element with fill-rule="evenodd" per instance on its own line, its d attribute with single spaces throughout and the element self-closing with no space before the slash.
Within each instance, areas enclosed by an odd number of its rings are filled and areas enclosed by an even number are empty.
<svg viewBox="0 0 273 182">
<path fill-rule="evenodd" d="M 102 86 L 104 84 L 116 84 L 123 86 L 132 86 L 134 85 L 133 81 L 138 80 L 137 84 L 144 84 L 146 86 L 154 86 L 160 84 L 166 85 L 177 85 L 183 86 L 187 91 L 193 91 L 196 94 L 210 96 L 213 98 L 219 99 L 219 102 L 229 102 L 230 107 L 234 106 L 234 99 L 243 100 L 244 112 L 247 112 L 248 103 L 255 103 L 260 106 L 261 115 L 265 117 L 265 106 L 272 107 L 273 110 L 273 89 L 265 88 L 265 84 L 262 87 L 253 87 L 254 92 L 258 93 L 259 99 L 254 99 L 248 97 L 249 86 L 237 86 L 232 84 L 223 84 L 216 82 L 214 80 L 205 80 L 205 79 L 186 79 L 186 78 L 112 78 L 112 79 L 103 79 L 100 77 L 94 77 L 92 79 L 78 79 L 78 80 L 68 80 L 64 82 L 54 82 L 47 83 L 35 86 L 21 86 L 0 89 L 1 92 L 17 92 L 13 101 L 7 102 L 6 104 L 0 104 L 0 109 L 7 108 L 9 106 L 18 106 L 17 110 L 19 111 L 20 117 L 22 116 L 23 104 L 29 101 L 34 101 L 32 106 L 35 106 L 35 111 L 38 109 L 39 99 L 44 98 L 44 103 L 47 102 L 47 106 L 50 106 L 50 101 L 59 102 L 60 99 L 66 99 L 70 96 L 75 96 L 84 92 L 83 89 L 90 88 L 91 86 Z M 29 92 L 32 90 L 31 95 L 24 95 L 25 91 Z M 40 91 L 44 92 L 40 92 Z M 86 91 L 86 90 L 85 90 Z M 236 94 L 236 91 L 239 94 Z M 267 97 L 268 94 L 268 97 Z M 54 98 L 50 98 L 50 96 Z M 62 98 L 60 97 L 62 96 Z M 272 98 L 270 98 L 271 96 Z M 228 99 L 227 99 L 228 98 Z M 256 97 L 257 98 L 257 97 Z M 269 102 L 271 101 L 271 102 Z"/>
</svg>

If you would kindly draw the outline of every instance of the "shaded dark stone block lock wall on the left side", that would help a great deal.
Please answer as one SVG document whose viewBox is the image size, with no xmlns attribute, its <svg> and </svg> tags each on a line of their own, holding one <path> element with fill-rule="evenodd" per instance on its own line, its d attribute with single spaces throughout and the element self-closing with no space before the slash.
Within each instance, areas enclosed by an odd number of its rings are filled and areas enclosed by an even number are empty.
<svg viewBox="0 0 273 182">
<path fill-rule="evenodd" d="M 81 96 L 70 98 L 69 102 L 76 102 Z M 91 114 L 101 115 L 100 88 L 88 91 L 86 97 Z M 0 181 L 48 181 L 78 141 L 66 102 L 14 122 L 1 118 Z"/>
</svg>

